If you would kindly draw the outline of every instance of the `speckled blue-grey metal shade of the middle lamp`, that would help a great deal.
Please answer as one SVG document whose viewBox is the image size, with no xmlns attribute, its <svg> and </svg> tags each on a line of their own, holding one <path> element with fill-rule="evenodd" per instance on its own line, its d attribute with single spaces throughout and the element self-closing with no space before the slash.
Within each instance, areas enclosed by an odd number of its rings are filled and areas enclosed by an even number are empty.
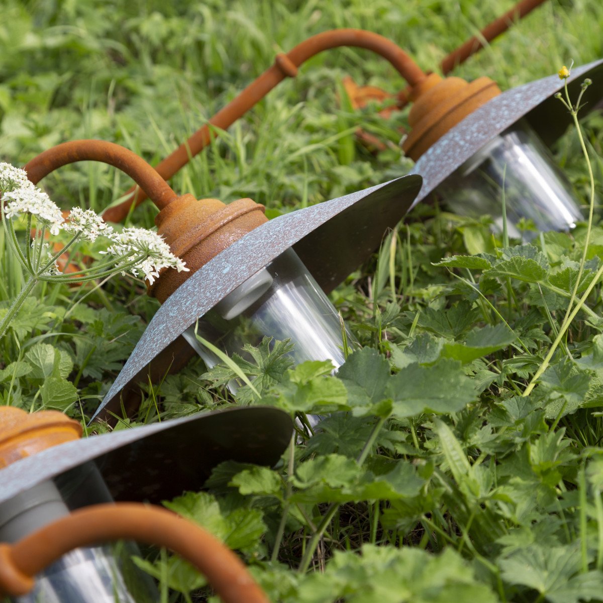
<svg viewBox="0 0 603 603">
<path fill-rule="evenodd" d="M 341 283 L 379 245 L 411 206 L 419 176 L 402 177 L 279 216 L 251 230 L 213 257 L 157 310 L 94 418 L 118 412 L 125 388 L 148 366 L 165 372 L 169 346 L 198 317 L 289 247 L 324 291 Z M 155 362 L 165 352 L 161 362 Z"/>
</svg>

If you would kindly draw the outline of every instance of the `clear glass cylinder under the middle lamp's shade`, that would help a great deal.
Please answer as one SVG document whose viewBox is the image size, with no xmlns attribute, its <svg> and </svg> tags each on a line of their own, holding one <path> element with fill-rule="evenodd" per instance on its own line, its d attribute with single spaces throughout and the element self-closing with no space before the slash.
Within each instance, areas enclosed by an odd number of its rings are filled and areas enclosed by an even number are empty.
<svg viewBox="0 0 603 603">
<path fill-rule="evenodd" d="M 245 343 L 257 346 L 269 336 L 291 339 L 294 364 L 330 360 L 338 368 L 345 362 L 339 314 L 292 249 L 227 295 L 198 320 L 197 329 L 228 355 L 241 355 Z M 219 358 L 195 337 L 195 324 L 183 336 L 207 367 L 218 364 Z M 347 331 L 346 337 L 352 344 Z"/>
</svg>

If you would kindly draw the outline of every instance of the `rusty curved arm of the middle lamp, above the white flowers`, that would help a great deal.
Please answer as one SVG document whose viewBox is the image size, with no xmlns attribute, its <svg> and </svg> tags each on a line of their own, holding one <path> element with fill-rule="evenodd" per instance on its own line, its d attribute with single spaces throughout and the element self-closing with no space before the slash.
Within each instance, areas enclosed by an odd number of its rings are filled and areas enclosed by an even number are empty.
<svg viewBox="0 0 603 603">
<path fill-rule="evenodd" d="M 145 191 L 159 209 L 163 209 L 177 197 L 171 186 L 142 157 L 121 145 L 105 140 L 63 142 L 34 157 L 24 169 L 31 182 L 37 184 L 43 177 L 63 165 L 86 160 L 109 163 L 121 169 Z"/>
</svg>

